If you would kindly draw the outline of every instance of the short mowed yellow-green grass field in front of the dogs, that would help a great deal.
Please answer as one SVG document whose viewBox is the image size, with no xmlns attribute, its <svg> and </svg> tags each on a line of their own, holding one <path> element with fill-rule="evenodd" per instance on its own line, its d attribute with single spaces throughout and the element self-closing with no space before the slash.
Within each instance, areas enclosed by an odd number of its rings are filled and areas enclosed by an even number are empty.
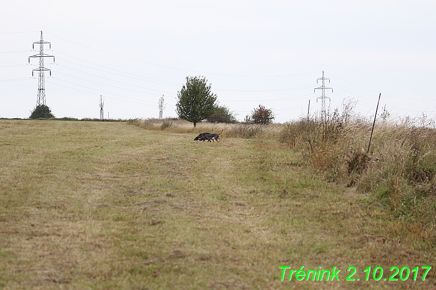
<svg viewBox="0 0 436 290">
<path fill-rule="evenodd" d="M 0 121 L 0 288 L 434 289 L 392 218 L 281 145 L 126 123 Z M 281 281 L 279 266 L 341 270 Z M 345 281 L 354 266 L 354 278 Z M 287 272 L 288 273 L 288 272 Z M 371 273 L 372 276 L 372 273 Z M 412 274 L 411 274 L 412 276 Z M 398 278 L 398 276 L 397 276 Z"/>
</svg>

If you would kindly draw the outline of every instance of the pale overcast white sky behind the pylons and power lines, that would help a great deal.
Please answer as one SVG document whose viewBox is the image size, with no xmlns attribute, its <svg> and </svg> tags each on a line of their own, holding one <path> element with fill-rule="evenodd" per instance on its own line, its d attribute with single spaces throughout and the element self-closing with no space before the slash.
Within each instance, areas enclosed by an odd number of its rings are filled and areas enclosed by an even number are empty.
<svg viewBox="0 0 436 290">
<path fill-rule="evenodd" d="M 55 56 L 45 89 L 56 117 L 98 118 L 100 94 L 106 117 L 156 118 L 162 94 L 175 117 L 185 77 L 201 74 L 240 120 L 262 104 L 285 122 L 309 100 L 320 110 L 322 70 L 327 105 L 351 96 L 373 115 L 381 92 L 394 117 L 435 117 L 435 15 L 436 2 L 419 0 L 2 1 L 0 117 L 36 105 L 38 59 L 27 63 L 40 30 Z"/>
</svg>

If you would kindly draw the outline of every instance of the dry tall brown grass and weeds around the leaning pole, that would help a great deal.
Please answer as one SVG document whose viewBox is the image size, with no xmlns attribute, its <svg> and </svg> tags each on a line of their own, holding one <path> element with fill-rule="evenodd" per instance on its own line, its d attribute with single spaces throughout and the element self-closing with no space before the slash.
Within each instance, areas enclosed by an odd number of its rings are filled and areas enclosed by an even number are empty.
<svg viewBox="0 0 436 290">
<path fill-rule="evenodd" d="M 398 233 L 436 247 L 436 129 L 425 116 L 372 124 L 338 111 L 287 124 L 280 140 L 329 181 L 356 186 L 398 218 Z M 352 117 L 352 116 L 351 116 Z M 405 223 L 406 222 L 406 223 Z"/>
</svg>

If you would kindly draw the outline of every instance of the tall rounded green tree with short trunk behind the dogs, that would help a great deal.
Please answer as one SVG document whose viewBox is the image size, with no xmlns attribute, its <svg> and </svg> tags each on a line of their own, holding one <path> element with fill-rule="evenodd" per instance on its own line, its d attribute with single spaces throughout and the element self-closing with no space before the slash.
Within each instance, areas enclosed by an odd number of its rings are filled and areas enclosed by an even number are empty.
<svg viewBox="0 0 436 290">
<path fill-rule="evenodd" d="M 179 118 L 194 123 L 194 127 L 209 118 L 218 106 L 217 96 L 210 88 L 206 77 L 187 76 L 186 84 L 177 92 L 176 112 Z"/>
</svg>

